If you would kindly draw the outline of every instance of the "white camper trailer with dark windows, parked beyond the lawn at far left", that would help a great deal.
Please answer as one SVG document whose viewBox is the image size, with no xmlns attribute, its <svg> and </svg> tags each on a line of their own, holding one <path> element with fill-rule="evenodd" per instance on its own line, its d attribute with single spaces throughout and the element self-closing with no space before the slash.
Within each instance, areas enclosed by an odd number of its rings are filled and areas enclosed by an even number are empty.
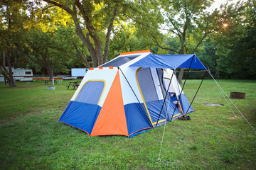
<svg viewBox="0 0 256 170">
<path fill-rule="evenodd" d="M 15 81 L 33 81 L 32 69 L 11 69 Z M 0 74 L 0 81 L 4 82 L 4 75 Z"/>
</svg>

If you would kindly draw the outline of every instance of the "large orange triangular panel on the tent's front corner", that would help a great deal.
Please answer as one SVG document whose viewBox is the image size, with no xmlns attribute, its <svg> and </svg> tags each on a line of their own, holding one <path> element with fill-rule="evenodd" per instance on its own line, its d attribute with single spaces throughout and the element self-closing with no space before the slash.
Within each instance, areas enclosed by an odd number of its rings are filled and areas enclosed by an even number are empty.
<svg viewBox="0 0 256 170">
<path fill-rule="evenodd" d="M 92 129 L 91 136 L 96 135 L 128 136 L 119 72 Z"/>
</svg>

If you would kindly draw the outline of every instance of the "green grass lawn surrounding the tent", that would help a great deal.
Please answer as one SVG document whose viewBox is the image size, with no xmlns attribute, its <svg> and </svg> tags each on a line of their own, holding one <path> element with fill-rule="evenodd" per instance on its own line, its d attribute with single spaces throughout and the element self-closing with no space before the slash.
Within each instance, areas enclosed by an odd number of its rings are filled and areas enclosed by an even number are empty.
<svg viewBox="0 0 256 170">
<path fill-rule="evenodd" d="M 191 101 L 201 80 L 188 80 Z M 256 81 L 220 80 L 230 91 L 245 92 L 233 99 L 256 128 Z M 205 80 L 193 102 L 189 121 L 166 124 L 161 163 L 157 161 L 164 125 L 133 138 L 88 137 L 57 123 L 75 92 L 68 81 L 48 91 L 43 81 L 0 84 L 0 169 L 255 169 L 256 134 L 232 111 L 213 80 Z M 224 106 L 202 106 L 223 103 Z M 164 163 L 163 163 L 164 162 Z"/>
</svg>

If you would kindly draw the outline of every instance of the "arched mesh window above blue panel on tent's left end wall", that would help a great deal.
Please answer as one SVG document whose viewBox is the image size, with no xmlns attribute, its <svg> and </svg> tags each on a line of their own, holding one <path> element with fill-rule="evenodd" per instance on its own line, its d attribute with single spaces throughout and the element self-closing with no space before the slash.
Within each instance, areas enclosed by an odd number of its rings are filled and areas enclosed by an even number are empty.
<svg viewBox="0 0 256 170">
<path fill-rule="evenodd" d="M 82 89 L 77 98 L 75 98 L 75 101 L 89 104 L 99 103 L 104 85 L 103 81 L 88 81 L 84 86 L 82 86 Z"/>
</svg>

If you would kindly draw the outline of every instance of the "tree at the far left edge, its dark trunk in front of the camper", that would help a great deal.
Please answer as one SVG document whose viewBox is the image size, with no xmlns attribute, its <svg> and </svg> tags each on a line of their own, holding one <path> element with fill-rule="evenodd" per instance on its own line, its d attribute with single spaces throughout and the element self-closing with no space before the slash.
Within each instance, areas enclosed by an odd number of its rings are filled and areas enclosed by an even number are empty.
<svg viewBox="0 0 256 170">
<path fill-rule="evenodd" d="M 24 23 L 28 19 L 26 10 L 30 6 L 28 1 L 1 1 L 0 4 L 0 41 L 1 51 L 6 53 L 6 60 L 8 69 L 4 66 L 4 62 L 1 62 L 1 73 L 9 82 L 10 87 L 14 87 L 15 81 L 12 75 L 12 62 L 14 62 L 15 50 L 22 46 Z"/>
</svg>

